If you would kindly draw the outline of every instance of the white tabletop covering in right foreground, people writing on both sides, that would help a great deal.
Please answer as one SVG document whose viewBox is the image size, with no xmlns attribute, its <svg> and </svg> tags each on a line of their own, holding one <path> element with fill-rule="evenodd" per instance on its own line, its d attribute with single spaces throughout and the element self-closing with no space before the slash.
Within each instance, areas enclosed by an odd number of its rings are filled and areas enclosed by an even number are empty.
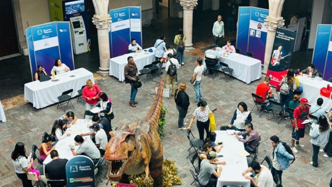
<svg viewBox="0 0 332 187">
<path fill-rule="evenodd" d="M 250 187 L 250 181 L 242 176 L 242 172 L 248 168 L 247 158 L 238 157 L 237 152 L 244 150 L 243 143 L 238 141 L 234 135 L 227 135 L 226 131 L 215 131 L 216 141 L 222 141 L 224 147 L 217 155 L 223 155 L 219 158 L 226 161 L 226 165 L 221 165 L 222 171 L 218 178 L 217 187 L 225 185 L 240 185 Z"/>
</svg>

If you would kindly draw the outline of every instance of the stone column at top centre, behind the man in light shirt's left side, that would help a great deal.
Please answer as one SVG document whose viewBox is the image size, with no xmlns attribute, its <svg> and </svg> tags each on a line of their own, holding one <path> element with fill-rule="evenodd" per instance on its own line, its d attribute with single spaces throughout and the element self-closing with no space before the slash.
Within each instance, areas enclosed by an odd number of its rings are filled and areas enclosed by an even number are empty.
<svg viewBox="0 0 332 187">
<path fill-rule="evenodd" d="M 192 10 L 197 5 L 197 0 L 180 0 L 183 7 L 183 33 L 187 36 L 185 50 L 190 51 L 192 47 Z"/>
</svg>

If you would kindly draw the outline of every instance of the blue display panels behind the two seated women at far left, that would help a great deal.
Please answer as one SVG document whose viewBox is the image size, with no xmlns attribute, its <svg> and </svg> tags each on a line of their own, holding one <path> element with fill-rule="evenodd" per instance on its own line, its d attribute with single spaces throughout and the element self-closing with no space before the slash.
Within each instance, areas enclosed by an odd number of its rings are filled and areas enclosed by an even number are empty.
<svg viewBox="0 0 332 187">
<path fill-rule="evenodd" d="M 50 75 L 57 58 L 61 58 L 62 63 L 71 70 L 74 69 L 69 22 L 32 26 L 28 27 L 25 33 L 32 80 L 38 65 L 42 65 L 47 75 Z"/>
</svg>

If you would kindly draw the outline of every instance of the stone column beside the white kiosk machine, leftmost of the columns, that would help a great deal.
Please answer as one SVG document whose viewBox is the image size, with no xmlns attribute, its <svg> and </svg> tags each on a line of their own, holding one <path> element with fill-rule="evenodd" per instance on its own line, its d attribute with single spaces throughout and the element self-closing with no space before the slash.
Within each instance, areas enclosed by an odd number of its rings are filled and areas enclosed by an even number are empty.
<svg viewBox="0 0 332 187">
<path fill-rule="evenodd" d="M 110 41 L 108 38 L 108 28 L 111 24 L 111 17 L 107 13 L 108 0 L 93 0 L 95 15 L 92 18 L 97 28 L 98 48 L 99 48 L 99 71 L 102 76 L 108 76 L 110 71 Z"/>
</svg>

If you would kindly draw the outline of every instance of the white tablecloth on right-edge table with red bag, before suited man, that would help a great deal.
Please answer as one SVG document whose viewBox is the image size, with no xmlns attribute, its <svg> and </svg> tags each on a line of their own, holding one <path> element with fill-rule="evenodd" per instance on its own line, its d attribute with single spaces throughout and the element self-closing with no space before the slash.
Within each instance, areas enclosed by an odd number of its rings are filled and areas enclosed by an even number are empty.
<svg viewBox="0 0 332 187">
<path fill-rule="evenodd" d="M 326 80 L 319 81 L 316 79 L 311 79 L 307 76 L 297 76 L 297 78 L 299 79 L 300 86 L 303 87 L 301 98 L 307 98 L 310 105 L 316 105 L 317 99 L 322 98 L 322 107 L 325 109 L 325 111 L 330 111 L 330 109 L 332 108 L 332 100 L 320 95 L 320 89 L 322 87 L 326 87 L 328 84 L 332 85 L 332 83 Z"/>
</svg>

